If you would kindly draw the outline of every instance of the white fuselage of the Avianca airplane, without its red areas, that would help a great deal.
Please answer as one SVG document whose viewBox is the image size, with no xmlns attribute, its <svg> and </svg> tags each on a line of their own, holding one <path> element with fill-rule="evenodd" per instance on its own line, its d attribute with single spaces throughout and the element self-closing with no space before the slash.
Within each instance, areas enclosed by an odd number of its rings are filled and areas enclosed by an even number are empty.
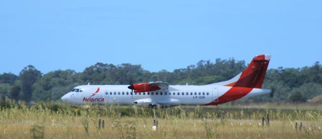
<svg viewBox="0 0 322 139">
<path fill-rule="evenodd" d="M 128 85 L 80 85 L 61 97 L 70 104 L 97 103 L 121 105 L 207 105 L 220 104 L 240 96 L 224 96 L 232 87 L 220 85 L 169 85 L 168 89 L 132 93 Z M 76 91 L 77 90 L 77 91 Z M 242 97 L 269 93 L 269 89 L 249 88 Z M 241 91 L 243 90 L 238 90 Z M 244 92 L 245 93 L 245 92 Z M 234 93 L 235 94 L 235 93 Z M 220 96 L 222 98 L 220 99 Z M 241 98 L 241 97 L 240 97 Z"/>
</svg>

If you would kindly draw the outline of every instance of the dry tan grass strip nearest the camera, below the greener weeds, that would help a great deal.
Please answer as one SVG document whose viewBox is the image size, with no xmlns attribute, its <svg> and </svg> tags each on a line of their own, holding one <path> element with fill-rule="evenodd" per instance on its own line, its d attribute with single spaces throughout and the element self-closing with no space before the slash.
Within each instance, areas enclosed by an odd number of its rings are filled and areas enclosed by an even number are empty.
<svg viewBox="0 0 322 139">
<path fill-rule="evenodd" d="M 133 119 L 123 117 L 119 124 L 112 119 L 105 118 L 105 128 L 98 129 L 93 122 L 89 125 L 87 133 L 80 117 L 51 117 L 52 120 L 42 121 L 36 117 L 34 120 L 9 120 L 2 125 L 0 138 L 27 138 L 32 137 L 32 125 L 44 126 L 45 138 L 207 138 L 204 122 L 209 122 L 210 138 L 321 138 L 322 131 L 317 126 L 311 126 L 311 121 L 304 121 L 307 128 L 295 130 L 290 121 L 271 121 L 270 126 L 259 125 L 259 120 L 226 120 L 224 124 L 216 120 L 200 119 L 159 119 L 156 131 L 152 131 L 152 118 Z M 56 120 L 56 121 L 55 121 Z M 137 123 L 135 123 L 137 120 Z M 114 124 L 114 127 L 112 127 Z M 123 127 L 124 126 L 124 127 Z"/>
</svg>

